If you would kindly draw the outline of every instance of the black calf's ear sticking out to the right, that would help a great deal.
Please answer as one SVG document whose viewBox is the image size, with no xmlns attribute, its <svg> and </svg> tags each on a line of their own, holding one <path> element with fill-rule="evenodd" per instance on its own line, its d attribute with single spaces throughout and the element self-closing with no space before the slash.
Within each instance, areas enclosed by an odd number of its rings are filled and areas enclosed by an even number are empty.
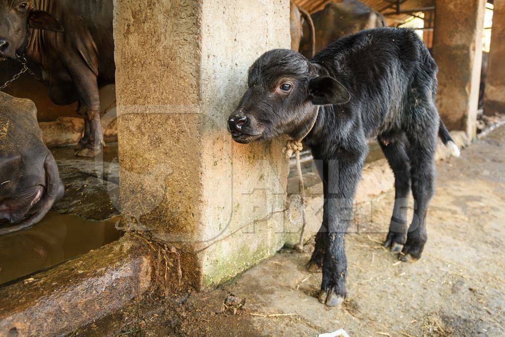
<svg viewBox="0 0 505 337">
<path fill-rule="evenodd" d="M 350 100 L 349 91 L 336 79 L 320 76 L 310 80 L 309 92 L 315 105 L 342 104 Z"/>
</svg>

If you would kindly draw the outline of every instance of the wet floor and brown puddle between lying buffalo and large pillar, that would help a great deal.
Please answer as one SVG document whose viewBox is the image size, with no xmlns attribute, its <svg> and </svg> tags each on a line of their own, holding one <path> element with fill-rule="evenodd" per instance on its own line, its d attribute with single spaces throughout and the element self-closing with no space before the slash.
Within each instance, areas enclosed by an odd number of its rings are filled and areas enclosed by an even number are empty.
<svg viewBox="0 0 505 337">
<path fill-rule="evenodd" d="M 76 158 L 71 147 L 52 149 L 65 195 L 32 228 L 0 237 L 0 284 L 55 266 L 117 240 L 117 143 L 103 158 Z"/>
</svg>

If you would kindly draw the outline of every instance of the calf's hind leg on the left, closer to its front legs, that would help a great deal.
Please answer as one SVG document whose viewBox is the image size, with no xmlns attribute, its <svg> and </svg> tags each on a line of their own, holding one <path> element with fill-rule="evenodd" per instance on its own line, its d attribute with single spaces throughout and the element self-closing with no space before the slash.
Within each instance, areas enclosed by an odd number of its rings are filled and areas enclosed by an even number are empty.
<svg viewBox="0 0 505 337">
<path fill-rule="evenodd" d="M 407 156 L 407 137 L 404 133 L 377 137 L 379 145 L 394 173 L 394 208 L 384 247 L 401 252 L 407 242 L 407 211 L 410 195 L 410 164 Z"/>
</svg>

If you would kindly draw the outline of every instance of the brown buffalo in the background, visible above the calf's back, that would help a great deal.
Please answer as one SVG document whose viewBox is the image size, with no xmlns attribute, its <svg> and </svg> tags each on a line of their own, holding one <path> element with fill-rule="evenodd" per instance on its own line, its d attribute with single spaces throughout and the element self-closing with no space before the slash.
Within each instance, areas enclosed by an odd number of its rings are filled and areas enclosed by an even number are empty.
<svg viewBox="0 0 505 337">
<path fill-rule="evenodd" d="M 324 9 L 312 15 L 312 21 L 316 30 L 316 53 L 345 35 L 387 26 L 382 14 L 357 0 L 330 2 Z M 309 31 L 309 28 L 305 27 L 304 31 Z M 300 42 L 300 53 L 312 58 L 312 50 L 310 39 L 304 35 Z"/>
</svg>

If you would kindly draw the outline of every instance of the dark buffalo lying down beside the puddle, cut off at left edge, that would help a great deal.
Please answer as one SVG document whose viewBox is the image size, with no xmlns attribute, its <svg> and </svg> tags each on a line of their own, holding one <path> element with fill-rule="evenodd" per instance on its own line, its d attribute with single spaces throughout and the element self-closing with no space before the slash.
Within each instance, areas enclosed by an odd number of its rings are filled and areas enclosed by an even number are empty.
<svg viewBox="0 0 505 337">
<path fill-rule="evenodd" d="M 63 192 L 35 105 L 0 91 L 0 235 L 40 221 Z M 3 220 L 17 224 L 5 227 Z"/>
</svg>

